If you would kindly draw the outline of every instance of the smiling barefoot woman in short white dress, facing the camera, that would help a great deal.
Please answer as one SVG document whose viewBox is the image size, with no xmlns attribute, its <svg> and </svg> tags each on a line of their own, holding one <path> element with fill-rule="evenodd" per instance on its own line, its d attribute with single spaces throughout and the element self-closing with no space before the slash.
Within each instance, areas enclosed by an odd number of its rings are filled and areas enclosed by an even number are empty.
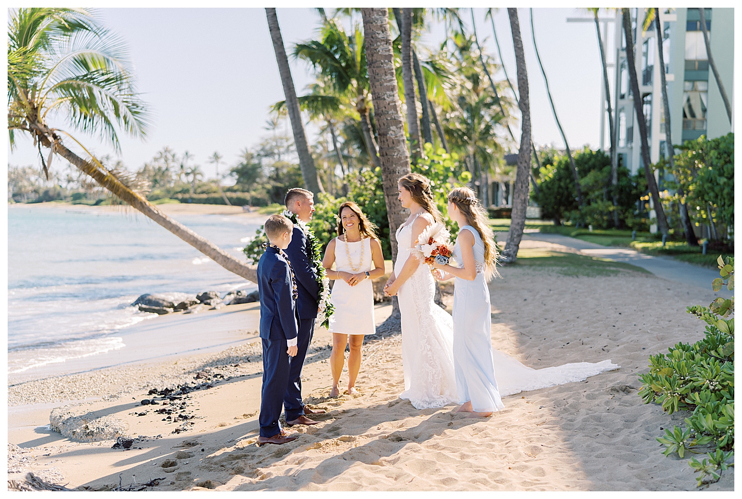
<svg viewBox="0 0 742 499">
<path fill-rule="evenodd" d="M 355 378 L 361 369 L 361 345 L 364 334 L 374 334 L 373 285 L 371 280 L 384 275 L 384 255 L 375 234 L 376 226 L 367 219 L 355 202 L 347 201 L 338 210 L 338 237 L 327 244 L 322 266 L 327 277 L 335 280 L 330 303 L 335 313 L 329 322 L 332 332 L 332 390 L 330 397 L 338 397 L 338 382 L 345 361 L 345 346 L 350 343 L 348 356 L 348 394 L 358 394 Z M 331 270 L 335 263 L 337 270 Z"/>
</svg>

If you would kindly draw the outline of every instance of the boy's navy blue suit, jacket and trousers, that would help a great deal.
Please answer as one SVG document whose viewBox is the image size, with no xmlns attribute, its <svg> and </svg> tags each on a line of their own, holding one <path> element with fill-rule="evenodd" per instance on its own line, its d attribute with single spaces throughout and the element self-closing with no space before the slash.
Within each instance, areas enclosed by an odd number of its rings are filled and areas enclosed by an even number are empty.
<svg viewBox="0 0 742 499">
<path fill-rule="evenodd" d="M 273 437 L 281 432 L 278 418 L 293 360 L 286 353 L 286 340 L 297 337 L 299 328 L 289 263 L 270 246 L 257 262 L 257 289 L 263 340 L 260 436 Z"/>
</svg>

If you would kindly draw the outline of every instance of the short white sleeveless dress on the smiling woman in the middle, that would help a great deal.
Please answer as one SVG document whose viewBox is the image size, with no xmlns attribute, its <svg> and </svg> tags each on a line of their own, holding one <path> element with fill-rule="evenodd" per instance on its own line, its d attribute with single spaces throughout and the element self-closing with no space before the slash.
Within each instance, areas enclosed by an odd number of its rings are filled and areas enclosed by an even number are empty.
<svg viewBox="0 0 742 499">
<path fill-rule="evenodd" d="M 361 250 L 361 248 L 363 249 Z M 351 267 L 348 254 L 350 254 L 352 265 L 358 270 Z M 367 237 L 356 242 L 345 242 L 336 237 L 335 269 L 351 274 L 372 271 L 371 238 Z M 335 280 L 329 301 L 332 305 L 335 305 L 335 313 L 329 319 L 330 332 L 340 334 L 375 333 L 373 283 L 370 279 L 364 279 L 355 286 L 349 285 L 342 279 Z"/>
</svg>

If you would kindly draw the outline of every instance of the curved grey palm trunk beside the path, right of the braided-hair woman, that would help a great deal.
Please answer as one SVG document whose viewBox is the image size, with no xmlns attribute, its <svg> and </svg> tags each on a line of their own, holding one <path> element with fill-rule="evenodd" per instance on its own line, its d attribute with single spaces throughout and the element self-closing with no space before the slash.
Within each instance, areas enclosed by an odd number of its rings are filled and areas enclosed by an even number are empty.
<svg viewBox="0 0 742 499">
<path fill-rule="evenodd" d="M 505 251 L 502 251 L 502 261 L 512 263 L 518 258 L 520 239 L 523 237 L 523 228 L 525 228 L 525 210 L 528 207 L 528 176 L 531 174 L 531 105 L 528 99 L 528 70 L 525 67 L 518 9 L 508 7 L 508 16 L 510 17 L 510 31 L 513 33 L 520 94 L 518 107 L 521 113 L 520 149 L 513 192 L 513 211 L 510 214 L 508 242 L 505 243 Z"/>
</svg>

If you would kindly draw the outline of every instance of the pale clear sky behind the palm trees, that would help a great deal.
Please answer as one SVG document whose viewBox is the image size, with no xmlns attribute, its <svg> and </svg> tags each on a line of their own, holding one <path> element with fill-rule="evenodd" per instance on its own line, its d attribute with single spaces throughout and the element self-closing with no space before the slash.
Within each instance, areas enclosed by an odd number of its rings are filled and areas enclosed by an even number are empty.
<svg viewBox="0 0 742 499">
<path fill-rule="evenodd" d="M 485 12 L 484 8 L 474 9 L 480 44 L 499 62 Z M 96 154 L 110 153 L 135 171 L 169 146 L 179 154 L 191 153 L 211 178 L 215 167 L 209 156 L 214 151 L 224 156 L 220 167 L 224 173 L 236 165 L 240 151 L 270 134 L 265 129 L 269 106 L 284 96 L 264 9 L 102 8 L 98 13 L 128 44 L 137 88 L 151 110 L 152 127 L 145 140 L 119 134 L 120 154 L 92 136 L 73 133 Z M 470 27 L 470 11 L 462 9 L 461 15 Z M 536 42 L 571 148 L 597 148 L 603 84 L 597 36 L 593 23 L 568 23 L 568 17 L 588 14 L 573 8 L 534 8 Z M 528 66 L 533 140 L 537 145 L 554 143 L 563 148 L 533 51 L 529 10 L 519 9 L 519 19 Z M 314 38 L 320 25 L 318 13 L 303 8 L 278 8 L 278 21 L 287 53 L 293 44 Z M 505 9 L 495 13 L 495 25 L 505 67 L 514 82 L 515 56 Z M 613 33 L 612 25 L 609 33 Z M 443 38 L 443 26 L 433 24 L 418 42 L 418 53 L 424 57 L 425 47 L 433 48 Z M 609 39 L 612 41 L 612 36 Z M 612 51 L 607 53 L 610 63 Z M 291 56 L 289 64 L 297 93 L 302 95 L 314 80 L 312 68 Z M 505 79 L 502 71 L 493 76 Z M 62 123 L 57 126 L 64 128 Z M 288 120 L 283 127 L 290 135 Z M 513 131 L 517 137 L 519 130 Z M 312 129 L 308 134 L 311 141 Z M 40 165 L 30 139 L 19 139 L 16 145 L 16 151 L 8 150 L 10 165 Z"/>
</svg>

